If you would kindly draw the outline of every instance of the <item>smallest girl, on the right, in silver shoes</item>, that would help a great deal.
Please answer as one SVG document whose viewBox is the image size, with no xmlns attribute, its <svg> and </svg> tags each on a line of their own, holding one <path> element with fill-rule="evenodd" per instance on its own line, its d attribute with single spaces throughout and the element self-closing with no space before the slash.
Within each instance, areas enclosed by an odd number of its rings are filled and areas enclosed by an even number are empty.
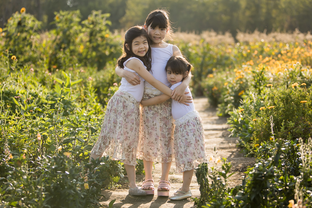
<svg viewBox="0 0 312 208">
<path fill-rule="evenodd" d="M 167 80 L 172 85 L 170 89 L 173 90 L 179 86 L 188 77 L 192 67 L 184 57 L 172 56 L 165 67 Z M 191 94 L 189 87 L 185 89 L 185 92 Z M 170 98 L 170 96 L 162 94 L 142 100 L 141 105 L 159 104 Z M 176 172 L 183 172 L 183 184 L 169 199 L 178 201 L 192 196 L 190 184 L 194 168 L 202 162 L 207 162 L 207 156 L 202 119 L 195 110 L 194 103 L 189 103 L 189 106 L 187 106 L 172 99 L 171 113 L 173 119 L 175 119 L 173 142 Z"/>
</svg>

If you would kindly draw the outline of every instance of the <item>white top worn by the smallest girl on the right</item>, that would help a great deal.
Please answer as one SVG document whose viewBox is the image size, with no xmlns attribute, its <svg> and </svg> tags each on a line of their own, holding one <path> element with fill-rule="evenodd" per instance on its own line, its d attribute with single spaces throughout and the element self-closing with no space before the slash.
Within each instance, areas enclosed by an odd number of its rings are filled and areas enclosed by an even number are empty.
<svg viewBox="0 0 312 208">
<path fill-rule="evenodd" d="M 178 82 L 170 87 L 170 89 L 174 89 L 178 87 L 182 82 Z M 189 87 L 185 89 L 185 92 L 189 92 L 186 94 L 187 96 L 192 96 L 191 90 Z M 174 120 L 182 118 L 185 114 L 192 112 L 195 110 L 194 103 L 188 103 L 188 105 L 184 105 L 182 103 L 178 103 L 178 101 L 175 101 L 174 99 L 171 99 L 171 114 Z"/>
</svg>

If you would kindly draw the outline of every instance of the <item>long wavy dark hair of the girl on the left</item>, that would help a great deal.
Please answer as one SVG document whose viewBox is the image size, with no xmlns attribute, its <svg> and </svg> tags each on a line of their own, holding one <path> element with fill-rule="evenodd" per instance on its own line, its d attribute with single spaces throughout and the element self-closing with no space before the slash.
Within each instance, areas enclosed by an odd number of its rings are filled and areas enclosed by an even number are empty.
<svg viewBox="0 0 312 208">
<path fill-rule="evenodd" d="M 132 52 L 132 41 L 139 36 L 144 36 L 146 38 L 146 40 L 148 41 L 149 44 L 149 49 L 147 51 L 147 53 L 145 54 L 145 56 L 140 57 L 140 56 L 136 56 L 133 52 Z M 127 49 L 126 44 L 128 44 L 129 49 Z M 147 70 L 151 70 L 152 67 L 152 63 L 151 63 L 151 47 L 150 47 L 150 41 L 149 41 L 149 36 L 147 34 L 147 32 L 144 30 L 144 27 L 141 26 L 134 26 L 131 27 L 129 30 L 126 31 L 126 33 L 124 34 L 124 47 L 123 47 L 123 53 L 122 55 L 119 57 L 118 61 L 117 61 L 117 65 L 120 68 L 124 68 L 124 62 L 126 60 L 128 60 L 130 57 L 136 57 L 139 60 L 141 60 L 144 64 L 144 66 L 147 67 Z"/>
</svg>

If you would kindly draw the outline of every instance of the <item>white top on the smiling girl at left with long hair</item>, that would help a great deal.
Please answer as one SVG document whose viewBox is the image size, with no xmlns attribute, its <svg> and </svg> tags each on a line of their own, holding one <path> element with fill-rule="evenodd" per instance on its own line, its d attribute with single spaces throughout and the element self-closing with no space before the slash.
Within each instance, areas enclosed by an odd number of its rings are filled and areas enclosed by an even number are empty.
<svg viewBox="0 0 312 208">
<path fill-rule="evenodd" d="M 138 74 L 136 73 L 134 70 L 132 69 L 129 69 L 128 67 L 126 67 L 126 63 L 131 60 L 131 59 L 137 59 L 139 60 L 138 58 L 136 57 L 131 57 L 129 58 L 128 60 L 126 60 L 124 62 L 124 70 L 127 70 L 127 71 L 131 71 L 131 72 L 134 72 L 136 75 L 139 76 L 140 78 L 140 84 L 139 85 L 131 85 L 129 82 L 127 82 L 127 80 L 123 77 L 121 78 L 121 85 L 119 86 L 119 89 L 122 90 L 122 91 L 126 91 L 130 94 L 132 94 L 134 96 L 134 98 L 137 100 L 137 101 L 141 101 L 142 100 L 142 97 L 143 97 L 143 93 L 144 93 L 144 79 Z M 142 64 L 143 62 L 141 60 L 139 60 Z M 144 64 L 143 64 L 144 65 Z M 144 66 L 145 69 L 146 69 L 146 66 Z"/>
</svg>

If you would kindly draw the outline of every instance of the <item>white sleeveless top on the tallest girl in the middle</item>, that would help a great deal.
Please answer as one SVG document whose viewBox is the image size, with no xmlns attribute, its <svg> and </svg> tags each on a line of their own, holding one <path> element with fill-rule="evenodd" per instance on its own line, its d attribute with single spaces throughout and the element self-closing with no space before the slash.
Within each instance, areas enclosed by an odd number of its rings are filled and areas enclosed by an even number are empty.
<svg viewBox="0 0 312 208">
<path fill-rule="evenodd" d="M 150 70 L 149 73 L 151 73 L 151 75 L 153 75 L 156 80 L 161 81 L 168 87 L 171 84 L 167 80 L 167 72 L 165 71 L 165 67 L 167 65 L 167 61 L 172 55 L 173 55 L 172 44 L 168 44 L 168 46 L 165 48 L 152 47 L 152 70 Z M 156 89 L 147 82 L 145 83 L 145 86 Z"/>
</svg>

